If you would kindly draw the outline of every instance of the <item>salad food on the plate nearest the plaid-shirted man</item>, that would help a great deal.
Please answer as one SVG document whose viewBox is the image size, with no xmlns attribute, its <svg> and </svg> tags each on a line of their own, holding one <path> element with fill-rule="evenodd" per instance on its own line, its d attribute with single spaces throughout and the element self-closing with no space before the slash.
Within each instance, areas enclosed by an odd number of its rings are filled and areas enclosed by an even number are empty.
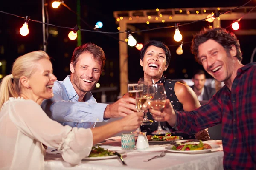
<svg viewBox="0 0 256 170">
<path fill-rule="evenodd" d="M 173 150 L 203 150 L 203 149 L 212 149 L 212 147 L 209 144 L 203 143 L 201 140 L 198 142 L 176 142 L 178 146 L 173 146 Z"/>
</svg>

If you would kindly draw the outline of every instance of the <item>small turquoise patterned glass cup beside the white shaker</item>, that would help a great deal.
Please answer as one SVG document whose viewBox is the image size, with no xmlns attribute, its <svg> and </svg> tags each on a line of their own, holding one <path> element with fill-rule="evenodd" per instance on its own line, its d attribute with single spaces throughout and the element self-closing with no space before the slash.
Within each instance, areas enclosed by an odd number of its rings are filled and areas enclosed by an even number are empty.
<svg viewBox="0 0 256 170">
<path fill-rule="evenodd" d="M 122 149 L 134 149 L 135 148 L 135 136 L 132 133 L 121 134 L 121 146 Z"/>
</svg>

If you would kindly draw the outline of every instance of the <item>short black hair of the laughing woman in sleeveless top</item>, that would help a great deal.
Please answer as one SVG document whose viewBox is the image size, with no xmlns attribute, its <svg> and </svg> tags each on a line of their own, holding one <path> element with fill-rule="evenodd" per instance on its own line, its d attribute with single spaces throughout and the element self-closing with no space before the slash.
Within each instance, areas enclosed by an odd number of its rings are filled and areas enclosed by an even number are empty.
<svg viewBox="0 0 256 170">
<path fill-rule="evenodd" d="M 151 41 L 146 42 L 144 44 L 143 48 L 140 50 L 140 59 L 143 61 L 145 52 L 146 52 L 147 48 L 151 45 L 163 49 L 163 51 L 166 53 L 166 65 L 169 66 L 170 59 L 171 59 L 171 52 L 170 52 L 169 48 L 161 41 L 151 40 Z"/>
</svg>

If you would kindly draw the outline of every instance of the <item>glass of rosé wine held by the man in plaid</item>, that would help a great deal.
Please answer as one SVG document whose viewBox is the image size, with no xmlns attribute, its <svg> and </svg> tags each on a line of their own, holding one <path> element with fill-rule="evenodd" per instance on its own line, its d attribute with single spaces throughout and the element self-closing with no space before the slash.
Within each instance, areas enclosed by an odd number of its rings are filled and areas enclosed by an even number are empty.
<svg viewBox="0 0 256 170">
<path fill-rule="evenodd" d="M 158 111 L 163 110 L 166 103 L 166 91 L 164 89 L 163 83 L 149 85 L 148 95 L 151 95 L 151 97 L 148 99 L 148 105 L 150 108 Z M 160 122 L 157 123 L 158 127 L 156 131 L 152 132 L 153 135 L 168 133 L 168 131 L 162 129 Z"/>
</svg>

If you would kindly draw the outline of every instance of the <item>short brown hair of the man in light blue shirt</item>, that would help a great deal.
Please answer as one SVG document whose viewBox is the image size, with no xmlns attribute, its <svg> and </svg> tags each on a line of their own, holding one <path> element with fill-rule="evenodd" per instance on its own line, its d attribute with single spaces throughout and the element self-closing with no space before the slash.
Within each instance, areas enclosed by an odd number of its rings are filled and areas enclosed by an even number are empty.
<svg viewBox="0 0 256 170">
<path fill-rule="evenodd" d="M 93 43 L 86 43 L 84 45 L 81 45 L 81 46 L 75 48 L 73 55 L 71 57 L 71 61 L 70 61 L 70 63 L 71 62 L 73 63 L 74 67 L 76 67 L 78 58 L 83 52 L 89 52 L 90 54 L 93 55 L 93 59 L 102 62 L 101 71 L 103 70 L 103 68 L 105 66 L 105 60 L 106 60 L 105 53 L 101 47 L 99 47 L 98 45 L 95 45 Z"/>
</svg>

